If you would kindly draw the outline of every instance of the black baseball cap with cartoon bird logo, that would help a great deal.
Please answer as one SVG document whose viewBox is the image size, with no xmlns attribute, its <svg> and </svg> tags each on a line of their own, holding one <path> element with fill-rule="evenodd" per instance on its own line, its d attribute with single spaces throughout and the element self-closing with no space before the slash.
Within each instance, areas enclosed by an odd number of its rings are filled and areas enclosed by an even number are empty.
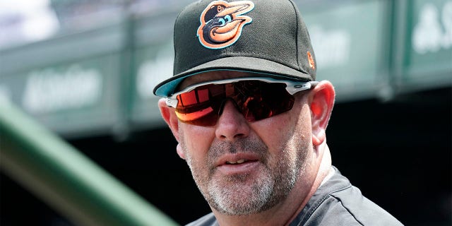
<svg viewBox="0 0 452 226">
<path fill-rule="evenodd" d="M 174 23 L 173 76 L 153 92 L 167 97 L 184 78 L 218 70 L 315 81 L 316 58 L 297 5 L 201 0 L 186 6 Z"/>
</svg>

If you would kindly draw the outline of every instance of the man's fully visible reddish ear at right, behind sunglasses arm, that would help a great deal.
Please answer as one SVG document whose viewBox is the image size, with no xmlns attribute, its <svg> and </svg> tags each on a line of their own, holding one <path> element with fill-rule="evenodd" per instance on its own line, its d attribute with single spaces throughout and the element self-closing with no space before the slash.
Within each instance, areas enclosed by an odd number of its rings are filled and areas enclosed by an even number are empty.
<svg viewBox="0 0 452 226">
<path fill-rule="evenodd" d="M 321 81 L 310 95 L 312 144 L 320 145 L 326 138 L 326 126 L 331 117 L 335 100 L 335 91 L 329 81 Z"/>
</svg>

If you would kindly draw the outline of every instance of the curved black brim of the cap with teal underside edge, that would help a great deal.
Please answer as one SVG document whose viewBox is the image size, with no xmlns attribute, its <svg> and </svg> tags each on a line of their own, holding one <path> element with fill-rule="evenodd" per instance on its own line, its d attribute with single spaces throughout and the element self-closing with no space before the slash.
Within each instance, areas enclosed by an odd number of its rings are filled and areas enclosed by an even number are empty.
<svg viewBox="0 0 452 226">
<path fill-rule="evenodd" d="M 200 64 L 192 69 L 179 73 L 172 78 L 157 84 L 153 90 L 154 94 L 160 97 L 168 97 L 174 93 L 180 82 L 184 78 L 194 76 L 206 71 L 246 71 L 252 73 L 261 73 L 263 77 L 287 78 L 295 81 L 311 81 L 308 73 L 297 71 L 283 64 L 274 61 L 254 57 L 225 57 Z"/>
</svg>

